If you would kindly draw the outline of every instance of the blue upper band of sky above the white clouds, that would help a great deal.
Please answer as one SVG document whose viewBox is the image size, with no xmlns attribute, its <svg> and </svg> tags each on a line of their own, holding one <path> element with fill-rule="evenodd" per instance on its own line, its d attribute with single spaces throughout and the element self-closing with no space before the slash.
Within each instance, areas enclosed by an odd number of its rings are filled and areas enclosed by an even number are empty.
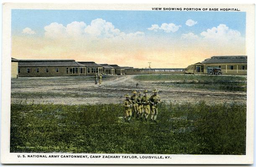
<svg viewBox="0 0 256 167">
<path fill-rule="evenodd" d="M 189 12 L 189 11 L 126 11 L 126 10 L 12 10 L 12 33 L 18 35 L 26 27 L 36 30 L 37 35 L 44 35 L 44 26 L 57 22 L 66 26 L 73 21 L 83 21 L 87 25 L 96 18 L 111 22 L 115 28 L 132 33 L 147 30 L 152 24 L 174 23 L 181 25 L 175 33 L 193 32 L 199 34 L 208 28 L 220 24 L 227 25 L 230 29 L 238 30 L 245 35 L 245 12 Z M 197 21 L 194 26 L 186 26 L 186 20 Z M 155 35 L 158 33 L 155 33 Z M 166 35 L 166 34 L 165 34 Z M 172 35 L 172 33 L 168 33 Z"/>
</svg>

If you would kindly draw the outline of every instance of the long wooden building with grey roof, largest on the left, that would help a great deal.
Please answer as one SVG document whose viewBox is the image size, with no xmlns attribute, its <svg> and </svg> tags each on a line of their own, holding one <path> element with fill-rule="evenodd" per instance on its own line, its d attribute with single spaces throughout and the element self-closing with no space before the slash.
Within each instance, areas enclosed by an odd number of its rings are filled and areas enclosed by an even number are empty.
<svg viewBox="0 0 256 167">
<path fill-rule="evenodd" d="M 75 60 L 19 60 L 18 76 L 85 76 L 85 65 Z"/>
</svg>

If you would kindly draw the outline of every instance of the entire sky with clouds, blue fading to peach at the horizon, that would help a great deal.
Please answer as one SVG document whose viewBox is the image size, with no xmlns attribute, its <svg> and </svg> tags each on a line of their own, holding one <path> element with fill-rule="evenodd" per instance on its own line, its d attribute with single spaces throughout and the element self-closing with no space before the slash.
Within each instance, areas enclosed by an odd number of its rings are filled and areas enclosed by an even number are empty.
<svg viewBox="0 0 256 167">
<path fill-rule="evenodd" d="M 246 55 L 245 12 L 12 10 L 12 57 L 185 68 Z"/>
</svg>

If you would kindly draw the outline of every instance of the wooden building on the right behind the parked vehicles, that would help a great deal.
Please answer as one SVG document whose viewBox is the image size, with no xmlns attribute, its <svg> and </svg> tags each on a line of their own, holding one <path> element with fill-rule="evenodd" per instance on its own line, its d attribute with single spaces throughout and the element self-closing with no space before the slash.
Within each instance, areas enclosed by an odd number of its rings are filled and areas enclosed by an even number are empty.
<svg viewBox="0 0 256 167">
<path fill-rule="evenodd" d="M 223 75 L 247 75 L 247 56 L 212 56 L 186 68 L 186 73 L 207 74 L 208 68 L 221 68 Z"/>
</svg>

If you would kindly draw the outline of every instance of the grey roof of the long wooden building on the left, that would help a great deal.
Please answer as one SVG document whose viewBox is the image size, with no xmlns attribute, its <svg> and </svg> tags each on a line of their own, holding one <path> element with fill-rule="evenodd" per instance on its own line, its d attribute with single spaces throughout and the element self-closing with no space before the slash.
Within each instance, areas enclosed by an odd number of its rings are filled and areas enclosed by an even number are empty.
<svg viewBox="0 0 256 167">
<path fill-rule="evenodd" d="M 40 67 L 40 66 L 85 66 L 75 60 L 19 60 L 19 67 Z"/>
</svg>

